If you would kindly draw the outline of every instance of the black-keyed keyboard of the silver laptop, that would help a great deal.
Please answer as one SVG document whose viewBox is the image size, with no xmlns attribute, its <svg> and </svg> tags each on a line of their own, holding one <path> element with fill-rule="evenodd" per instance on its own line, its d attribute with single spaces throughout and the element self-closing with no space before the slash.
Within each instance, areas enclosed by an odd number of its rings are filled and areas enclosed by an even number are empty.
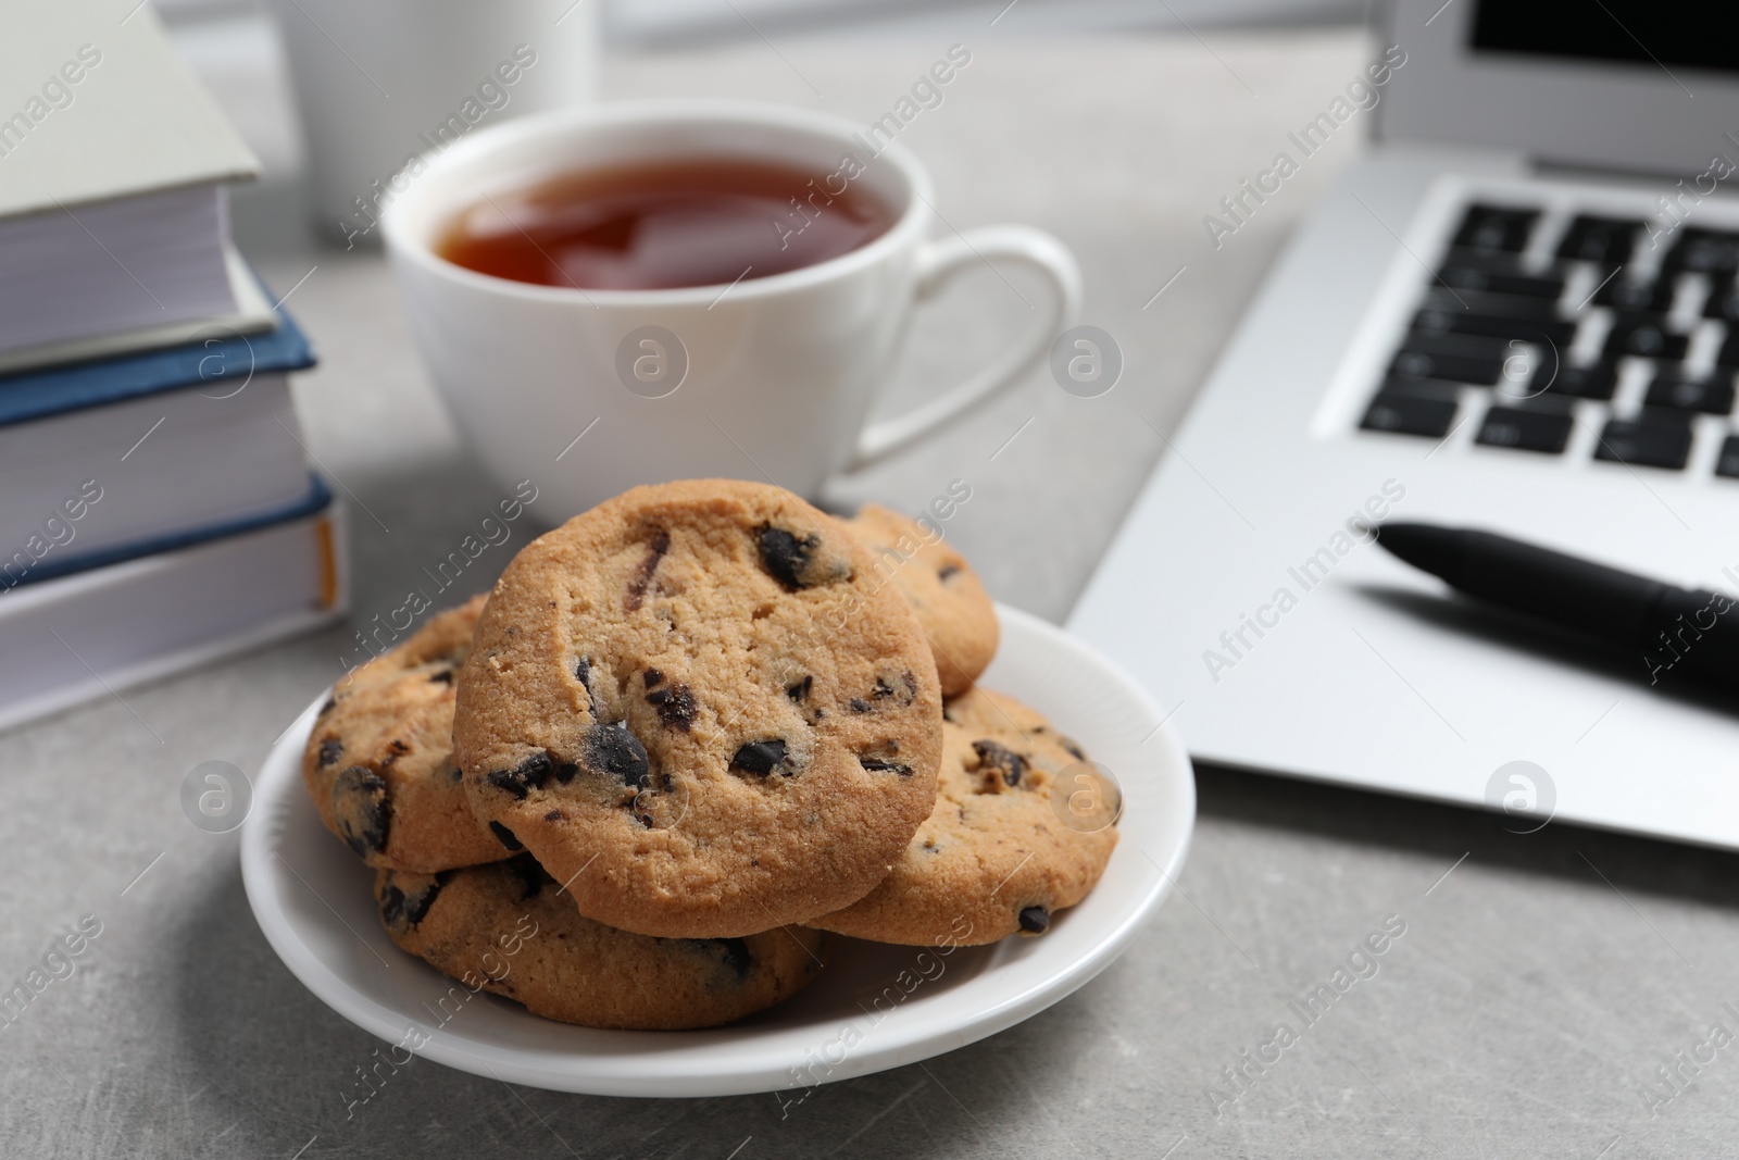
<svg viewBox="0 0 1739 1160">
<path fill-rule="evenodd" d="M 1360 428 L 1739 480 L 1739 231 L 1468 207 Z M 1551 233 L 1555 237 L 1539 237 Z M 1711 423 L 1713 419 L 1713 423 Z M 1595 437 L 1577 440 L 1577 426 Z"/>
</svg>

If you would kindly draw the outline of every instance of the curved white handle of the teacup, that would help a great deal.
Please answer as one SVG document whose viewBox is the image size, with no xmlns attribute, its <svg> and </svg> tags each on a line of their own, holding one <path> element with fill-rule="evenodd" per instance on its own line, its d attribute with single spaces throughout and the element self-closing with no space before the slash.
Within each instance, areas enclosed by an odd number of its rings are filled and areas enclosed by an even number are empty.
<svg viewBox="0 0 1739 1160">
<path fill-rule="evenodd" d="M 981 226 L 937 242 L 923 242 L 916 256 L 916 299 L 922 303 L 962 270 L 991 259 L 1026 263 L 1043 273 L 1052 289 L 1050 311 L 1028 339 L 965 383 L 892 419 L 871 423 L 857 435 L 847 471 L 866 468 L 953 423 L 969 409 L 1014 384 L 1075 323 L 1082 308 L 1082 271 L 1057 238 L 1031 226 Z"/>
</svg>

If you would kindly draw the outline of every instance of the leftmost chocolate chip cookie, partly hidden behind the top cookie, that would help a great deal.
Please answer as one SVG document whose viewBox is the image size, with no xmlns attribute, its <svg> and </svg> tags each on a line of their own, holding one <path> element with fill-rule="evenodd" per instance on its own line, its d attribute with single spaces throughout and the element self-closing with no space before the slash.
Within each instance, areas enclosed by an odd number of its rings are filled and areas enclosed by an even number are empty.
<svg viewBox="0 0 1739 1160">
<path fill-rule="evenodd" d="M 320 821 L 370 866 L 447 870 L 508 857 L 471 816 L 452 762 L 454 682 L 483 597 L 440 612 L 332 689 L 303 751 Z"/>
</svg>

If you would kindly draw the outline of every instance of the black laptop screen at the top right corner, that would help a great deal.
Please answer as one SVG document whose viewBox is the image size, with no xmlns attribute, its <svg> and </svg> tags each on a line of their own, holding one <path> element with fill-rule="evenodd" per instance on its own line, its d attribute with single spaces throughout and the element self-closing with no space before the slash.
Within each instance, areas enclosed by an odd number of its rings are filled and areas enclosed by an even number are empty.
<svg viewBox="0 0 1739 1160">
<path fill-rule="evenodd" d="M 1480 0 L 1475 52 L 1739 71 L 1734 0 Z"/>
</svg>

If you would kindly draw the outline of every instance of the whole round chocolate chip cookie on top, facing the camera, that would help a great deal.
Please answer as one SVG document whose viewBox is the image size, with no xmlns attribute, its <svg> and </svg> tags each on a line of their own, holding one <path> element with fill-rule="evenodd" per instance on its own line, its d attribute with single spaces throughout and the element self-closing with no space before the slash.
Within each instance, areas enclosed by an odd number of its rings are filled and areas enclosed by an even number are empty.
<svg viewBox="0 0 1739 1160">
<path fill-rule="evenodd" d="M 473 812 L 588 918 L 736 937 L 840 910 L 936 800 L 936 666 L 843 523 L 763 483 L 638 487 L 503 572 L 459 682 Z"/>
</svg>

